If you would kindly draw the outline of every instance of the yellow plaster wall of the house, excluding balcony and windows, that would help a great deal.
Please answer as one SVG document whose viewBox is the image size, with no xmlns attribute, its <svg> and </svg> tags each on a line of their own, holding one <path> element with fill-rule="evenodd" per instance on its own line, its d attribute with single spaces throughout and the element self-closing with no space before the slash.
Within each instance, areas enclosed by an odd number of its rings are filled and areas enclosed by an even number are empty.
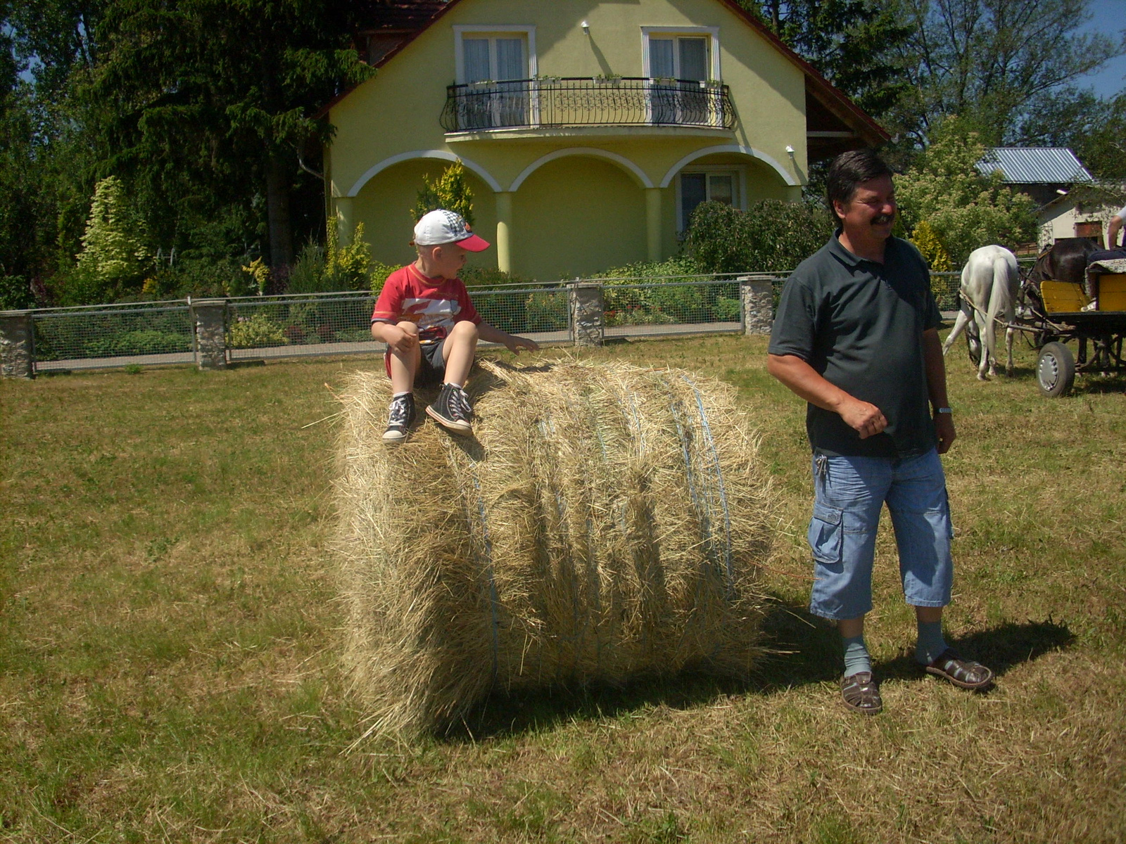
<svg viewBox="0 0 1126 844">
<path fill-rule="evenodd" d="M 584 19 L 589 35 L 580 26 Z M 538 73 L 561 77 L 642 75 L 643 26 L 718 27 L 721 74 L 730 86 L 738 125 L 733 132 L 631 126 L 447 136 L 438 118 L 446 86 L 455 81 L 454 27 L 501 24 L 535 25 Z M 461 158 L 479 173 L 473 182 L 476 231 L 488 240 L 497 237 L 495 190 L 516 186 L 510 226 L 513 272 L 584 275 L 647 257 L 646 182 L 660 190 L 660 257 L 677 252 L 673 168 L 701 152 L 744 150 L 711 154 L 695 163 L 745 167 L 748 199 L 798 198 L 806 181 L 804 109 L 801 70 L 715 0 L 463 0 L 374 79 L 330 109 L 336 127 L 327 156 L 330 203 L 349 225 L 364 221 L 376 258 L 397 261 L 402 252 L 397 244 L 410 239 L 403 208 L 413 204 L 422 173 L 439 172 L 448 164 L 422 156 Z M 786 153 L 787 145 L 794 147 L 793 155 Z M 565 158 L 544 162 L 558 153 Z M 395 156 L 428 163 L 401 162 L 370 174 Z M 575 209 L 583 205 L 580 195 L 587 197 L 584 213 L 565 212 L 569 231 L 577 233 L 573 239 L 548 243 L 535 234 L 539 230 L 531 222 L 546 213 L 539 206 L 551 208 L 554 200 L 558 209 Z M 610 209 L 614 215 L 631 215 L 613 244 L 596 236 L 596 222 Z M 497 260 L 495 250 L 489 254 Z"/>
</svg>

